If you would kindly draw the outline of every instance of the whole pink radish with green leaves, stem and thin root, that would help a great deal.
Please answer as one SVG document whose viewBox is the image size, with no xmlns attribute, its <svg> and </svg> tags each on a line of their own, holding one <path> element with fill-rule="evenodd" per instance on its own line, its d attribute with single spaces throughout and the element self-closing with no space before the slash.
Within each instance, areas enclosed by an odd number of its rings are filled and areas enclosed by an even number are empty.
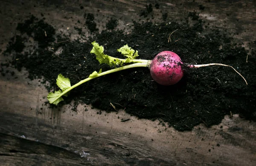
<svg viewBox="0 0 256 166">
<path fill-rule="evenodd" d="M 93 48 L 90 53 L 94 53 L 96 55 L 96 59 L 99 61 L 99 63 L 105 63 L 108 64 L 110 67 L 114 66 L 115 68 L 107 70 L 105 72 L 102 72 L 102 70 L 100 70 L 99 72 L 94 71 L 87 79 L 81 80 L 73 86 L 71 86 L 70 84 L 70 79 L 65 78 L 64 76 L 59 74 L 56 83 L 61 90 L 55 91 L 55 93 L 50 92 L 48 94 L 47 98 L 49 100 L 49 103 L 57 105 L 60 101 L 64 100 L 62 96 L 67 96 L 70 90 L 83 84 L 84 82 L 129 68 L 149 68 L 151 77 L 154 79 L 155 82 L 161 85 L 177 84 L 177 82 L 179 82 L 180 79 L 182 79 L 183 77 L 183 66 L 187 66 L 189 68 L 200 68 L 211 65 L 221 65 L 233 68 L 230 65 L 224 65 L 219 63 L 210 63 L 205 65 L 184 65 L 180 57 L 176 53 L 171 51 L 160 52 L 154 57 L 153 60 L 135 59 L 137 56 L 139 56 L 138 51 L 134 51 L 132 48 L 128 47 L 128 45 L 124 45 L 117 50 L 118 52 L 122 53 L 122 55 L 127 57 L 126 59 L 119 59 L 104 54 L 103 46 L 99 46 L 99 44 L 95 41 L 92 42 L 92 45 Z M 124 65 L 125 63 L 133 64 Z M 116 68 L 116 66 L 121 67 Z M 233 68 L 233 70 L 235 69 Z M 236 71 L 236 73 L 238 73 L 244 79 L 244 77 L 238 71 Z M 245 79 L 244 81 L 247 84 L 247 81 Z"/>
</svg>

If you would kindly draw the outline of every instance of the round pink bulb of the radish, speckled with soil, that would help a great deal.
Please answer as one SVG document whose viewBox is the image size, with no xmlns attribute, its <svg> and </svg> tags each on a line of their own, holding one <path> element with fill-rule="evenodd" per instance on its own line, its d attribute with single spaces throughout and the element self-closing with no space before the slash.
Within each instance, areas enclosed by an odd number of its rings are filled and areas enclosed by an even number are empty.
<svg viewBox="0 0 256 166">
<path fill-rule="evenodd" d="M 150 74 L 161 85 L 173 85 L 183 77 L 180 56 L 172 51 L 157 54 L 150 64 Z"/>
</svg>

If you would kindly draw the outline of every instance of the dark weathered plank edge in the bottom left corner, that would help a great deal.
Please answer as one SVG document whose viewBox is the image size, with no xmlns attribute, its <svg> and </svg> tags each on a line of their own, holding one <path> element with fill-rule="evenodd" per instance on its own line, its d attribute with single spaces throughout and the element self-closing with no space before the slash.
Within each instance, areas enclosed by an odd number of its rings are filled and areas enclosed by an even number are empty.
<svg viewBox="0 0 256 166">
<path fill-rule="evenodd" d="M 0 134 L 0 138 L 1 165 L 91 165 L 79 154 L 56 146 L 5 134 Z"/>
</svg>

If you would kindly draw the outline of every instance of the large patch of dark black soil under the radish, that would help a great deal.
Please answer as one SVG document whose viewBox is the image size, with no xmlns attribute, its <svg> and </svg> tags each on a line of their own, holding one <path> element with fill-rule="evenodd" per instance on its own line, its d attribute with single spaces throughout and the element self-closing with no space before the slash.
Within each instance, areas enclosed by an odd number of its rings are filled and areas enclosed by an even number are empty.
<svg viewBox="0 0 256 166">
<path fill-rule="evenodd" d="M 145 13 L 150 13 L 151 8 L 147 6 Z M 142 16 L 146 17 L 146 14 Z M 157 53 L 168 50 L 177 53 L 184 64 L 232 65 L 247 79 L 248 85 L 233 69 L 222 66 L 184 68 L 183 79 L 172 86 L 154 82 L 148 68 L 134 68 L 82 84 L 64 97 L 57 107 L 74 100 L 74 111 L 78 103 L 92 104 L 106 112 L 116 111 L 112 103 L 116 109 L 125 109 L 138 118 L 159 119 L 161 125 L 167 123 L 179 131 L 191 130 L 200 123 L 210 127 L 219 124 L 224 115 L 235 113 L 256 120 L 255 52 L 249 54 L 246 62 L 248 52 L 241 47 L 242 43 L 234 42 L 229 32 L 209 29 L 196 13 L 189 13 L 183 24 L 174 20 L 162 23 L 134 21 L 129 34 L 112 28 L 116 27 L 116 21 L 107 23 L 106 27 L 111 27 L 108 28 L 111 31 L 105 29 L 99 33 L 93 14 L 85 14 L 84 17 L 87 28 L 95 34 L 87 42 L 79 39 L 72 41 L 64 34 L 56 35 L 52 25 L 34 16 L 20 23 L 17 26 L 20 35 L 15 35 L 16 40 L 12 40 L 4 52 L 6 56 L 12 52 L 13 59 L 1 63 L 2 76 L 7 73 L 5 68 L 21 70 L 25 67 L 29 71 L 29 79 L 42 78 L 44 81 L 41 83 L 49 82 L 45 86 L 53 91 L 58 89 L 56 78 L 60 73 L 70 78 L 71 84 L 76 84 L 95 70 L 110 69 L 107 65 L 99 65 L 95 56 L 90 54 L 90 42 L 94 40 L 104 45 L 106 54 L 120 58 L 122 56 L 116 49 L 126 44 L 138 51 L 140 59 L 153 59 Z M 23 42 L 29 42 L 25 34 L 33 37 L 38 47 L 24 52 Z M 56 54 L 55 51 L 60 48 L 61 53 Z M 87 108 L 84 107 L 84 110 Z"/>
</svg>

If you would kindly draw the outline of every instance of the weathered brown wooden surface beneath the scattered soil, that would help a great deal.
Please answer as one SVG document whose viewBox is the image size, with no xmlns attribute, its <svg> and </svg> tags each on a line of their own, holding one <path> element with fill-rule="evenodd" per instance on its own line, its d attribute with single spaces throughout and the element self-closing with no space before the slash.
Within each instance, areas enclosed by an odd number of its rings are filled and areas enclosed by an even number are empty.
<svg viewBox="0 0 256 166">
<path fill-rule="evenodd" d="M 73 20 L 84 20 L 84 12 L 121 18 L 119 27 L 138 20 L 145 5 L 155 0 L 0 0 L 0 48 L 4 50 L 15 33 L 19 19 L 31 12 L 37 17 L 46 13 L 46 21 L 60 30 L 73 27 Z M 183 18 L 185 11 L 198 11 L 211 27 L 226 28 L 244 43 L 245 48 L 256 40 L 256 2 L 251 0 L 161 0 L 160 10 L 168 17 Z M 81 10 L 79 4 L 84 6 Z M 34 5 L 36 7 L 34 7 Z M 58 6 L 58 8 L 56 8 Z M 97 10 L 100 9 L 100 12 Z M 162 14 L 154 8 L 154 21 Z M 49 15 L 47 14 L 49 13 Z M 159 15 L 157 16 L 157 13 Z M 105 15 L 105 16 L 103 16 Z M 207 18 L 205 18 L 207 16 Z M 145 20 L 145 19 L 144 19 Z M 11 22 L 12 25 L 10 24 Z M 15 24 L 16 23 L 16 24 Z M 15 24 L 15 25 L 13 25 Z M 102 28 L 103 23 L 99 23 Z M 84 30 L 86 30 L 84 28 Z M 72 29 L 70 30 L 72 31 Z M 76 37 L 74 31 L 73 37 Z M 255 56 L 255 55 L 254 55 Z M 0 62 L 6 58 L 0 55 Z M 49 109 L 44 105 L 47 90 L 38 80 L 26 79 L 26 70 L 17 72 L 18 79 L 0 76 L 0 165 L 131 165 L 131 166 L 255 166 L 256 122 L 238 115 L 226 116 L 222 123 L 207 128 L 204 124 L 189 132 L 162 127 L 158 121 L 119 113 L 97 114 L 96 109 L 79 105 Z M 29 82 L 29 84 L 28 84 Z M 118 116 L 120 118 L 118 118 Z M 122 122 L 121 119 L 130 118 Z"/>
</svg>

